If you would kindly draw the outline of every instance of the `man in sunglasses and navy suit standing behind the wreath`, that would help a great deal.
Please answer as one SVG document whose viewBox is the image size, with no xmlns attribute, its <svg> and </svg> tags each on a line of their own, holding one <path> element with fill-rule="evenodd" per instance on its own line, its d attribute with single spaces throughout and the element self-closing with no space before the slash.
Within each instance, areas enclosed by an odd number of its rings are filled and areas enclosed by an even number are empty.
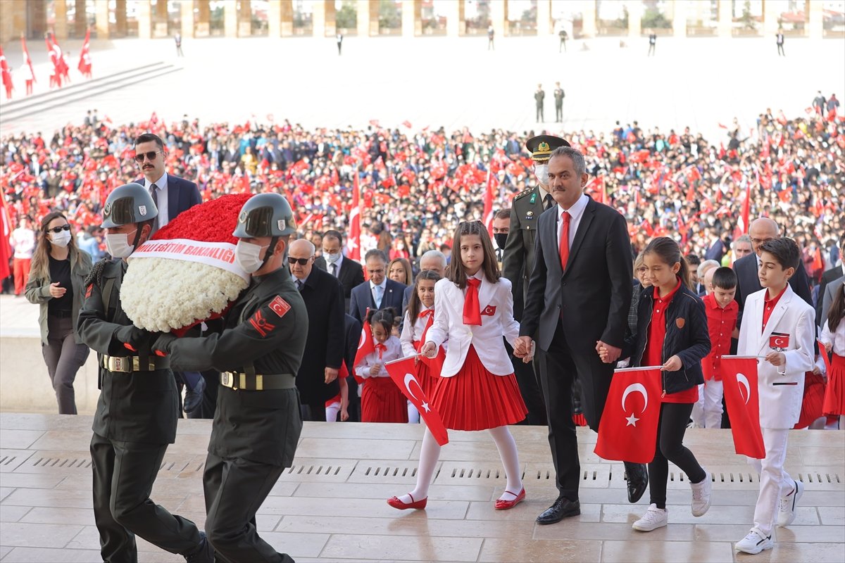
<svg viewBox="0 0 845 563">
<path fill-rule="evenodd" d="M 176 219 L 178 214 L 202 203 L 202 198 L 199 197 L 199 188 L 193 181 L 167 174 L 165 171 L 166 159 L 167 151 L 164 148 L 164 142 L 158 135 L 143 133 L 135 138 L 135 162 L 138 163 L 141 173 L 144 174 L 144 177 L 136 180 L 135 183 L 140 184 L 150 192 L 153 203 L 159 210 L 150 236 L 155 234 L 156 230 Z M 203 409 L 199 407 L 203 403 L 211 403 L 209 394 L 211 387 L 217 387 L 219 375 L 215 371 L 209 371 L 206 376 L 197 371 L 174 371 L 173 376 L 176 378 L 179 390 L 180 417 L 183 414 L 182 389 L 187 385 L 188 397 L 185 398 L 185 403 L 190 405 L 188 409 L 193 407 L 191 412 L 188 413 L 188 417 L 199 418 L 210 414 L 207 418 L 212 418 L 213 412 L 203 413 Z"/>
</svg>

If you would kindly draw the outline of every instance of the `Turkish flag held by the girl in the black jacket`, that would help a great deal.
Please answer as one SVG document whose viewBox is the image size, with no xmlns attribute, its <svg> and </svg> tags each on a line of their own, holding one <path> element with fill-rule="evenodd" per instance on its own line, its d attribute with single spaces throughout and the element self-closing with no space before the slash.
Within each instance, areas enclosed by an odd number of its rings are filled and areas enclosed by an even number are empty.
<svg viewBox="0 0 845 563">
<path fill-rule="evenodd" d="M 595 452 L 604 459 L 649 463 L 654 458 L 660 419 L 660 368 L 613 372 L 608 400 L 598 425 Z"/>
</svg>

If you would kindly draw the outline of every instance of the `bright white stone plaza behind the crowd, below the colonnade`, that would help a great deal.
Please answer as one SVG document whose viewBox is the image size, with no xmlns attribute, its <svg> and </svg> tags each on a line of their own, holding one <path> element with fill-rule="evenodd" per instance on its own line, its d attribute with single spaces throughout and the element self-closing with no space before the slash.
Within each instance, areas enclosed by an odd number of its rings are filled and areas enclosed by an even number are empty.
<svg viewBox="0 0 845 563">
<path fill-rule="evenodd" d="M 204 123 L 267 122 L 272 115 L 305 127 L 367 127 L 377 119 L 388 127 L 407 120 L 413 129 L 502 127 L 520 134 L 542 128 L 609 132 L 616 120 L 639 120 L 641 127 L 665 132 L 690 126 L 718 140 L 725 138 L 718 124 L 734 116 L 745 134 L 766 107 L 799 116 L 817 89 L 845 96 L 842 39 L 790 38 L 787 57 L 777 57 L 773 37 L 661 37 L 656 57 L 646 57 L 646 39 L 624 38 L 624 48 L 619 38 L 570 41 L 560 54 L 557 41 L 504 37 L 497 38 L 496 51 L 487 51 L 483 37 L 349 38 L 338 57 L 332 39 L 188 39 L 184 58 L 175 56 L 169 39 L 95 42 L 95 78 L 154 62 L 181 70 L 21 119 L 4 120 L 2 100 L 0 124 L 4 132 L 47 134 L 81 122 L 93 108 L 116 124 L 144 121 L 155 111 L 167 122 L 185 113 Z M 64 48 L 78 57 L 79 41 Z M 38 50 L 33 42 L 38 88 L 44 89 L 49 63 Z M 8 45 L 6 53 L 18 68 L 19 45 Z M 72 62 L 78 84 L 82 78 Z M 566 93 L 562 124 L 553 123 L 556 81 Z M 538 83 L 546 91 L 544 124 L 534 116 Z"/>
</svg>

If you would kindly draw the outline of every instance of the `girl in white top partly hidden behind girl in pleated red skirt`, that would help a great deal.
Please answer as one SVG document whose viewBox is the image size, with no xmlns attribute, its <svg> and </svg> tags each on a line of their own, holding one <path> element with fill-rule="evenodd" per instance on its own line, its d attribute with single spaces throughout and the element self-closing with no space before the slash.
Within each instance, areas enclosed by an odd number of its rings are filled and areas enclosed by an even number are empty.
<svg viewBox="0 0 845 563">
<path fill-rule="evenodd" d="M 399 337 L 402 343 L 402 355 L 417 355 L 420 348 L 425 344 L 426 333 L 434 323 L 434 284 L 440 279 L 440 274 L 433 270 L 423 270 L 417 274 L 417 283 L 411 293 L 411 300 L 408 302 L 408 309 L 405 311 L 405 322 L 402 323 L 402 334 Z M 444 347 L 446 344 L 443 344 Z M 428 367 L 428 362 L 417 361 L 417 381 L 426 397 L 432 397 L 434 391 L 435 377 Z M 420 421 L 420 414 L 417 408 L 408 401 L 408 422 L 417 423 Z"/>
</svg>

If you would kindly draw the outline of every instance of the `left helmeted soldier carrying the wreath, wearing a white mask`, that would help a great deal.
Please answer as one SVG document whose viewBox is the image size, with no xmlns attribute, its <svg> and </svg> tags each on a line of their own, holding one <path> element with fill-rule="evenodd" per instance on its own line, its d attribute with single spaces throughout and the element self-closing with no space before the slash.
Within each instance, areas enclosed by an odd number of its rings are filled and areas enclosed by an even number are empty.
<svg viewBox="0 0 845 563">
<path fill-rule="evenodd" d="M 104 561 L 136 563 L 138 535 L 188 561 L 211 563 L 211 546 L 194 522 L 150 500 L 167 444 L 176 440 L 176 382 L 168 360 L 150 352 L 154 334 L 123 312 L 120 286 L 126 258 L 149 238 L 157 214 L 143 186 L 117 187 L 102 224 L 117 260 L 96 263 L 85 280 L 77 329 L 97 352 L 101 389 L 90 445 L 94 519 Z"/>
</svg>

